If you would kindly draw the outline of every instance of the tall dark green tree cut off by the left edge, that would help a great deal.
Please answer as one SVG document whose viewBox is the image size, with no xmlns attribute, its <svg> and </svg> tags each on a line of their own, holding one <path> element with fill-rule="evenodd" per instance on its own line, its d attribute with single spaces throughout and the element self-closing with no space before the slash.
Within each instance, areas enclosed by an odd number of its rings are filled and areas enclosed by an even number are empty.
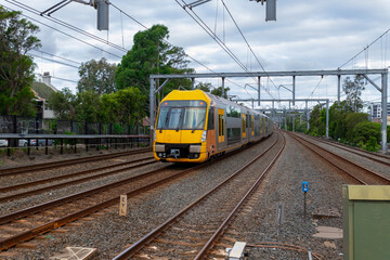
<svg viewBox="0 0 390 260">
<path fill-rule="evenodd" d="M 38 49 L 40 40 L 34 35 L 38 26 L 0 6 L 0 113 L 32 116 L 36 103 L 30 86 L 34 63 L 27 52 Z"/>
</svg>

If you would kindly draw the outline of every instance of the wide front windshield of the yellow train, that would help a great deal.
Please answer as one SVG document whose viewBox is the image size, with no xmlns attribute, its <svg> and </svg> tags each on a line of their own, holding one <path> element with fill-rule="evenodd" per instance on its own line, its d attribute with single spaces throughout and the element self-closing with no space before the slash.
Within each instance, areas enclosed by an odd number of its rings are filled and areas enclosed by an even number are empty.
<svg viewBox="0 0 390 260">
<path fill-rule="evenodd" d="M 157 129 L 202 130 L 206 108 L 204 101 L 166 101 L 160 105 Z"/>
</svg>

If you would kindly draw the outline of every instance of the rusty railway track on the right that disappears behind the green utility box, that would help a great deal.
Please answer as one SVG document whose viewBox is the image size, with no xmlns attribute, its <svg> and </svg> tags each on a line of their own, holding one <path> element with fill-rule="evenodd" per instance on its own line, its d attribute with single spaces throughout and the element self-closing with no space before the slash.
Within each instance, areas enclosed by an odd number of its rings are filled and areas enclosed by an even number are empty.
<svg viewBox="0 0 390 260">
<path fill-rule="evenodd" d="M 390 179 L 377 172 L 374 172 L 363 166 L 360 166 L 351 160 L 342 158 L 341 156 L 321 147 L 312 141 L 303 139 L 302 136 L 287 132 L 297 142 L 315 153 L 317 156 L 326 160 L 328 164 L 336 167 L 338 170 L 352 178 L 358 184 L 364 185 L 389 185 Z"/>
</svg>

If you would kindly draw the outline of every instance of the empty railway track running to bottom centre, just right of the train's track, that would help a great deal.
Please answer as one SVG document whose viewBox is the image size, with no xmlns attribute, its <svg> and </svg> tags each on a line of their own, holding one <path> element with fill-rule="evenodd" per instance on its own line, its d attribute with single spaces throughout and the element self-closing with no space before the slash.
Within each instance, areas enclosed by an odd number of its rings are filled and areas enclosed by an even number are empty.
<svg viewBox="0 0 390 260">
<path fill-rule="evenodd" d="M 281 155 L 285 140 L 281 147 L 277 143 L 280 139 L 114 259 L 204 259 Z M 271 152 L 276 155 L 260 174 L 258 168 L 250 168 Z"/>
</svg>

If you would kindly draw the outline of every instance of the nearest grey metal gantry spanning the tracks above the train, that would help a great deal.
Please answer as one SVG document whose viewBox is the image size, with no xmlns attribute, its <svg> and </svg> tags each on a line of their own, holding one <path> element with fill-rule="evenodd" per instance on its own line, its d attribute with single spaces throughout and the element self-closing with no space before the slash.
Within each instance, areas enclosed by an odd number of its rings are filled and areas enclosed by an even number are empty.
<svg viewBox="0 0 390 260">
<path fill-rule="evenodd" d="M 368 75 L 381 75 L 381 87 L 375 84 L 373 80 L 368 78 Z M 292 77 L 292 99 L 291 102 L 295 104 L 296 101 L 296 77 L 302 76 L 337 76 L 338 77 L 338 89 L 337 89 L 337 100 L 340 102 L 340 83 L 341 83 L 341 76 L 344 75 L 363 75 L 367 80 L 381 93 L 381 103 L 382 103 L 382 121 L 381 121 L 381 150 L 384 152 L 387 151 L 387 93 L 388 93 L 388 69 L 335 69 L 335 70 L 292 70 L 292 72 L 257 72 L 257 73 L 210 73 L 210 74 L 181 74 L 181 75 L 151 75 L 151 92 L 150 92 L 150 100 L 151 100 L 151 133 L 154 133 L 154 120 L 155 120 L 155 113 L 156 113 L 156 104 L 155 104 L 155 96 L 156 93 L 161 89 L 159 88 L 156 90 L 156 79 L 181 79 L 181 78 L 188 78 L 194 81 L 196 78 L 221 78 L 222 79 L 222 93 L 224 93 L 224 80 L 225 78 L 247 78 L 247 77 Z M 165 83 L 162 83 L 164 86 Z M 258 86 L 258 102 L 260 105 L 260 80 Z M 250 100 L 251 101 L 251 100 Z M 276 101 L 276 100 L 272 100 Z M 303 100 L 307 101 L 307 100 Z M 327 108 L 328 108 L 327 102 Z M 153 136 L 153 135 L 152 135 Z"/>
</svg>

